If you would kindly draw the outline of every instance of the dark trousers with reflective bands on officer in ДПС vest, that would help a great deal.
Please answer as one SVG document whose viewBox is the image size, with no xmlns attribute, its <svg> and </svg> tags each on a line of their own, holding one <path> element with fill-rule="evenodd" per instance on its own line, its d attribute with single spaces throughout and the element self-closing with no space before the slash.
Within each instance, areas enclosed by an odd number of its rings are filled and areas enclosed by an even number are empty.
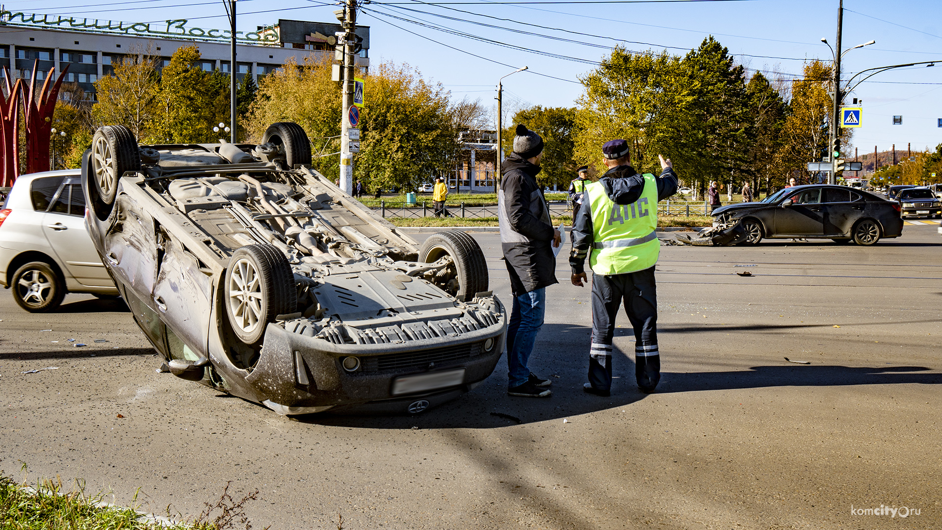
<svg viewBox="0 0 942 530">
<path fill-rule="evenodd" d="M 615 315 L 624 303 L 635 328 L 635 376 L 642 389 L 654 389 L 660 379 L 658 354 L 658 294 L 654 267 L 637 273 L 593 275 L 592 347 L 589 382 L 596 389 L 611 388 L 611 336 Z"/>
</svg>

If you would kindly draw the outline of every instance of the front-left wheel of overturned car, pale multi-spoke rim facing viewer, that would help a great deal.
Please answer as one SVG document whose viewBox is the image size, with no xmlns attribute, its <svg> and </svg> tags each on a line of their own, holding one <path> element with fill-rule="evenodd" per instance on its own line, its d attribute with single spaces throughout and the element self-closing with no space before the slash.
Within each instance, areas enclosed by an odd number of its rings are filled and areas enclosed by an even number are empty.
<svg viewBox="0 0 942 530">
<path fill-rule="evenodd" d="M 247 245 L 233 253 L 225 278 L 225 306 L 236 337 L 255 345 L 275 317 L 298 306 L 298 290 L 287 258 L 267 244 Z"/>
</svg>

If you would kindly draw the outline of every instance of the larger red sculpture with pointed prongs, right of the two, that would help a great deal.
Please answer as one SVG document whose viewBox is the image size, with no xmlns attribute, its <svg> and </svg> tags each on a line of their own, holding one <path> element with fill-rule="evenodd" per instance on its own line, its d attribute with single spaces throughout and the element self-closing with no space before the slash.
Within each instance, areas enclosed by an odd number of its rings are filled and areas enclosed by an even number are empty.
<svg viewBox="0 0 942 530">
<path fill-rule="evenodd" d="M 49 81 L 53 78 L 56 68 L 53 67 L 46 75 L 42 89 L 36 91 L 36 72 L 39 61 L 33 62 L 33 77 L 30 79 L 29 92 L 25 94 L 24 124 L 26 124 L 26 173 L 39 173 L 49 171 L 49 137 L 52 135 L 53 112 L 56 110 L 59 87 L 65 80 L 65 73 L 69 71 L 66 65 L 56 79 L 52 89 Z"/>
</svg>

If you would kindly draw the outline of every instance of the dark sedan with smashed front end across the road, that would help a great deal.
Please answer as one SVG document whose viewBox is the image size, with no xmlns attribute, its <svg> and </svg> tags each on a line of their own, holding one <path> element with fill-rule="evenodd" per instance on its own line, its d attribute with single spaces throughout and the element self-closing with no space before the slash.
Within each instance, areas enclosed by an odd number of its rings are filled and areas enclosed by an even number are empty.
<svg viewBox="0 0 942 530">
<path fill-rule="evenodd" d="M 902 233 L 900 205 L 846 186 L 812 184 L 786 188 L 758 203 L 719 207 L 713 226 L 740 224 L 744 244 L 762 238 L 821 238 L 871 245 Z"/>
</svg>

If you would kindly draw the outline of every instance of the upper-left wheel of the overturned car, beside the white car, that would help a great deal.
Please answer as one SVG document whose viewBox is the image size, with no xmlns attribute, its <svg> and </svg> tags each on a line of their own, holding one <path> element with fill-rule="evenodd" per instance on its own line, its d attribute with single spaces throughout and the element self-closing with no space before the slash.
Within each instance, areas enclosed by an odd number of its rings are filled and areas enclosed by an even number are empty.
<svg viewBox="0 0 942 530">
<path fill-rule="evenodd" d="M 105 125 L 91 139 L 91 170 L 95 190 L 107 206 L 115 202 L 118 180 L 140 167 L 138 141 L 124 125 Z"/>
</svg>

